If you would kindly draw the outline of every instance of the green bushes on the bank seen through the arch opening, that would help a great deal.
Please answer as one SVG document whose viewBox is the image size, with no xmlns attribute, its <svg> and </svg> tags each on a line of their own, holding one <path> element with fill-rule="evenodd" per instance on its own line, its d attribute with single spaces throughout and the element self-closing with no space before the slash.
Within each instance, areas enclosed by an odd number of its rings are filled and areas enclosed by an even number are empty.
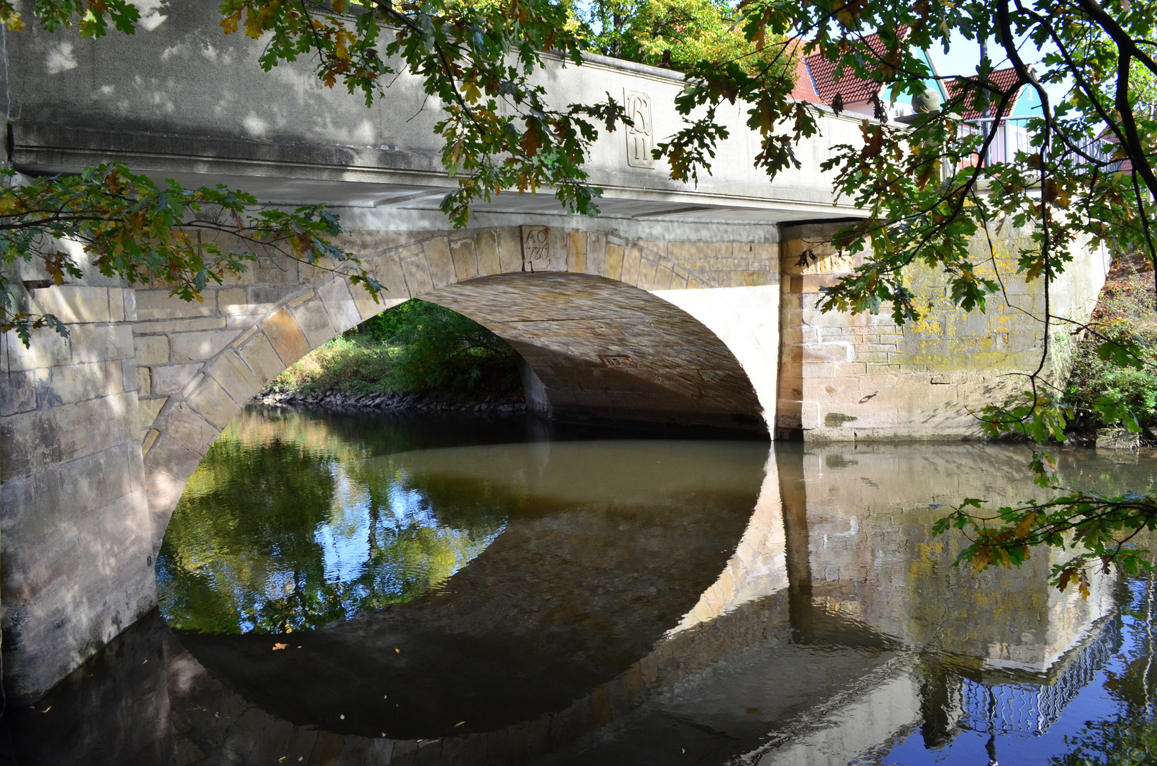
<svg viewBox="0 0 1157 766">
<path fill-rule="evenodd" d="M 450 309 L 411 300 L 318 347 L 270 384 L 273 391 L 354 393 L 517 389 L 517 352 Z"/>
</svg>

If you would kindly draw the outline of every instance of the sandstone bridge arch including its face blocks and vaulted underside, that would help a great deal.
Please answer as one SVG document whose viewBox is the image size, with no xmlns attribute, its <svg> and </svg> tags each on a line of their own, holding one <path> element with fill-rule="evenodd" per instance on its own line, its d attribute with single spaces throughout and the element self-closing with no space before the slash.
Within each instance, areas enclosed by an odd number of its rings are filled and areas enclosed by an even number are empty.
<svg viewBox="0 0 1157 766">
<path fill-rule="evenodd" d="M 640 243 L 541 226 L 363 233 L 344 244 L 386 287 L 382 302 L 346 274 L 278 258 L 208 290 L 201 304 L 137 292 L 154 557 L 185 481 L 253 395 L 410 297 L 508 340 L 526 362 L 529 406 L 546 417 L 752 433 L 774 420 L 778 338 L 752 327 L 776 318 L 775 244 Z M 720 270 L 736 255 L 746 270 Z M 752 323 L 754 314 L 764 322 Z"/>
</svg>

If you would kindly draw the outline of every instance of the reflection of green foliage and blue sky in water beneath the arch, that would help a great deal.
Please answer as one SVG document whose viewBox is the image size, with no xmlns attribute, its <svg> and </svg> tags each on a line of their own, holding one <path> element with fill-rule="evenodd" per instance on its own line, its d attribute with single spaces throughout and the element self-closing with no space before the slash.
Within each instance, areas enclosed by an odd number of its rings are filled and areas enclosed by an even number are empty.
<svg viewBox="0 0 1157 766">
<path fill-rule="evenodd" d="M 405 602 L 502 529 L 485 488 L 432 504 L 396 466 L 367 467 L 333 434 L 270 436 L 238 419 L 190 478 L 157 558 L 175 627 L 296 631 Z"/>
</svg>

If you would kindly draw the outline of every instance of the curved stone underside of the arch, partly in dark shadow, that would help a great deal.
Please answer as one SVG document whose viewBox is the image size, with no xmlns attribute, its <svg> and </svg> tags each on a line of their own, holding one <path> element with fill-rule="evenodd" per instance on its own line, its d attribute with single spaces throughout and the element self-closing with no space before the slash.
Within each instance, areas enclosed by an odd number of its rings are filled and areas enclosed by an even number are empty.
<svg viewBox="0 0 1157 766">
<path fill-rule="evenodd" d="M 548 418 L 767 433 L 735 355 L 663 299 L 602 277 L 516 273 L 423 296 L 523 356 L 528 405 Z"/>
</svg>

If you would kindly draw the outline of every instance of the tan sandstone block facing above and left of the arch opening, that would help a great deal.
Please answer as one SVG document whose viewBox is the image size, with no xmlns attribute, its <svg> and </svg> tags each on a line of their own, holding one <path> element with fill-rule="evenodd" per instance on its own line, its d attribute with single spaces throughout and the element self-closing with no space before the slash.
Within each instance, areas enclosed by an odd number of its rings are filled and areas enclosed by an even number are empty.
<svg viewBox="0 0 1157 766">
<path fill-rule="evenodd" d="M 143 440 L 154 550 L 185 480 L 236 412 L 285 367 L 390 305 L 434 299 L 455 282 L 513 273 L 580 273 L 665 293 L 768 286 L 779 277 L 775 244 L 629 242 L 532 226 L 360 231 L 342 245 L 385 286 L 382 303 L 340 274 L 283 259 L 263 260 L 205 290 L 200 303 L 169 297 L 165 289 L 138 290 L 137 433 Z M 772 347 L 774 359 L 776 344 L 760 348 Z M 768 399 L 774 407 L 773 391 L 760 396 L 765 407 Z"/>
</svg>

